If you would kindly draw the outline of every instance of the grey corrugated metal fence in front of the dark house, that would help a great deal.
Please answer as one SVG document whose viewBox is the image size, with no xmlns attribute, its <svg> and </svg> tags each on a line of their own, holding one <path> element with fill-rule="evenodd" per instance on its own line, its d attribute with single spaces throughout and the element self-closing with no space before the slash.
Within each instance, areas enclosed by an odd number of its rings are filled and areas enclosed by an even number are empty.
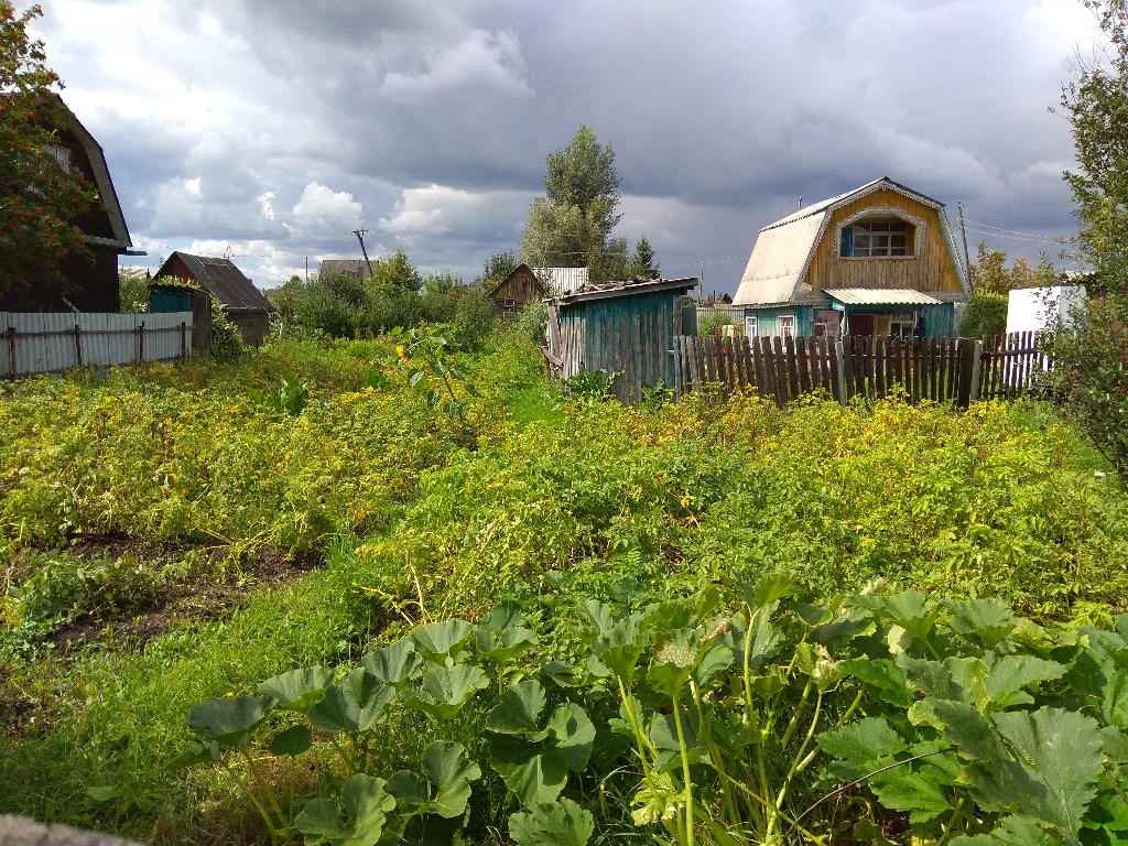
<svg viewBox="0 0 1128 846">
<path fill-rule="evenodd" d="M 191 311 L 0 311 L 0 377 L 50 373 L 85 364 L 184 361 L 192 352 L 192 331 Z"/>
</svg>

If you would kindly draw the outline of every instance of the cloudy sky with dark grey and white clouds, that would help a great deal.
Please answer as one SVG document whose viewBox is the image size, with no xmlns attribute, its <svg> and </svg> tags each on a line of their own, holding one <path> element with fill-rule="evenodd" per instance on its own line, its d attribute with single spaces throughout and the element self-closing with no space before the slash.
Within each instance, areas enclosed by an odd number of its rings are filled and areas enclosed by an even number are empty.
<svg viewBox="0 0 1128 846">
<path fill-rule="evenodd" d="M 27 2 L 17 0 L 18 8 Z M 735 291 L 758 230 L 889 176 L 968 240 L 1074 231 L 1050 113 L 1081 0 L 42 0 L 34 33 L 156 270 L 230 253 L 261 287 L 402 248 L 467 281 L 518 252 L 545 157 L 611 144 L 616 235 Z"/>
</svg>

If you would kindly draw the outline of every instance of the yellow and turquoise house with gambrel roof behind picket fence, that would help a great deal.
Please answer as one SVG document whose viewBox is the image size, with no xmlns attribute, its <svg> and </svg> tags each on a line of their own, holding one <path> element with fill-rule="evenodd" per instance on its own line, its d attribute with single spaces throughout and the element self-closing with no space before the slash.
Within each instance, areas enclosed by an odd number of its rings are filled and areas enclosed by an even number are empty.
<svg viewBox="0 0 1128 846">
<path fill-rule="evenodd" d="M 943 203 L 883 177 L 764 227 L 733 302 L 750 336 L 943 337 L 969 293 Z"/>
</svg>

